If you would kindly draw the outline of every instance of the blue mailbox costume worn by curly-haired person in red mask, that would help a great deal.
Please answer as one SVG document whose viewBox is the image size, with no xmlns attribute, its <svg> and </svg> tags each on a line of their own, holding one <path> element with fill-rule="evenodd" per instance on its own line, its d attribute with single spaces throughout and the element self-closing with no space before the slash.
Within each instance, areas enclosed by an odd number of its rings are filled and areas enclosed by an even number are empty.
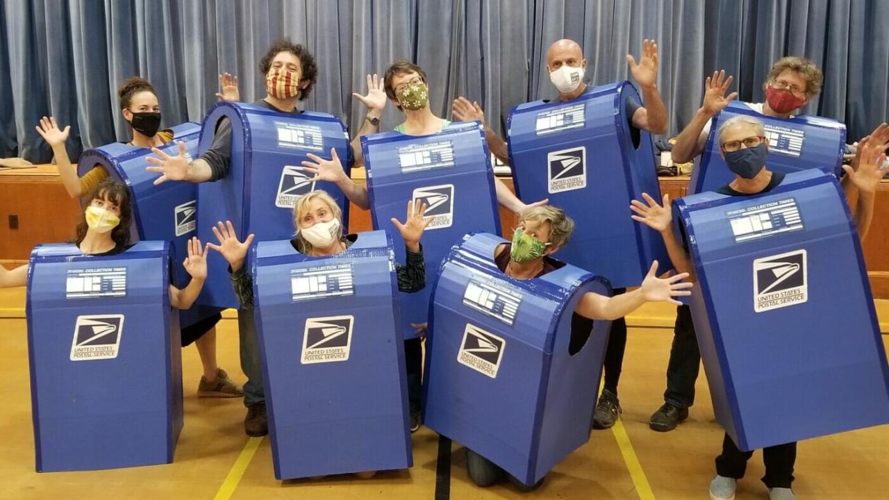
<svg viewBox="0 0 889 500">
<path fill-rule="evenodd" d="M 717 190 L 734 179 L 719 154 L 719 126 L 731 117 L 745 115 L 755 117 L 765 125 L 769 144 L 769 169 L 780 173 L 793 173 L 810 168 L 842 173 L 845 125 L 829 118 L 793 117 L 789 119 L 769 117 L 751 109 L 747 103 L 732 101 L 720 111 L 710 125 L 707 145 L 696 161 L 688 188 L 692 193 Z"/>
</svg>

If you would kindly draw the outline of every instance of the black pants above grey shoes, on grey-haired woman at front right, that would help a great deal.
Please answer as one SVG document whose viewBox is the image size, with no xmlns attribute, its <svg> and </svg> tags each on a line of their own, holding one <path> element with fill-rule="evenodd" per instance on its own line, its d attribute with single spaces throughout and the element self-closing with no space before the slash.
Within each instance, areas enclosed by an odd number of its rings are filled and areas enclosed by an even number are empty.
<svg viewBox="0 0 889 500">
<path fill-rule="evenodd" d="M 725 478 L 740 480 L 747 470 L 747 461 L 752 451 L 741 451 L 732 438 L 725 434 L 722 455 L 717 456 L 717 474 Z M 797 442 L 763 448 L 767 488 L 790 488 L 793 482 L 793 465 L 797 462 Z"/>
</svg>

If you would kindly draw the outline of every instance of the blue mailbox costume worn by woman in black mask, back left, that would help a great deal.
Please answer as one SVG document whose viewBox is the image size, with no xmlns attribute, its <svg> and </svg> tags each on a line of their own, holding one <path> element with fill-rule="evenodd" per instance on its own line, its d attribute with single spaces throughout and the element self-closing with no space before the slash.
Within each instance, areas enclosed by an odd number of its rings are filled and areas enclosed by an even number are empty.
<svg viewBox="0 0 889 500">
<path fill-rule="evenodd" d="M 179 154 L 178 142 L 185 142 L 188 157 L 197 157 L 197 141 L 201 125 L 187 122 L 170 129 L 173 140 L 158 149 L 169 155 Z M 146 172 L 146 158 L 151 149 L 137 148 L 113 142 L 96 149 L 88 149 L 77 162 L 77 173 L 83 176 L 95 165 L 102 165 L 108 175 L 122 182 L 130 191 L 132 223 L 131 243 L 140 240 L 170 241 L 170 258 L 180 262 L 188 254 L 188 240 L 197 235 L 197 187 L 189 182 L 164 182 L 154 185 L 156 173 Z M 85 193 L 84 193 L 85 194 Z M 188 283 L 190 277 L 182 266 L 175 267 L 175 285 Z M 180 326 L 188 327 L 216 314 L 219 309 L 192 306 L 180 310 Z"/>
</svg>

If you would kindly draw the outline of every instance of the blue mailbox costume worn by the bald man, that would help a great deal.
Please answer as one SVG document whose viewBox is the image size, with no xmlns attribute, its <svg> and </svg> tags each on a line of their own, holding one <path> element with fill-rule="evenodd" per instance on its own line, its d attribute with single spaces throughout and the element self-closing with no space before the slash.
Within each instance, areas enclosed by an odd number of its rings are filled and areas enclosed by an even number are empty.
<svg viewBox="0 0 889 500">
<path fill-rule="evenodd" d="M 520 104 L 507 122 L 516 193 L 582 216 L 559 254 L 615 287 L 637 286 L 655 259 L 669 262 L 660 235 L 625 210 L 643 192 L 661 193 L 651 136 L 632 130 L 629 99 L 641 101 L 629 82 L 602 85 L 573 101 Z"/>
</svg>

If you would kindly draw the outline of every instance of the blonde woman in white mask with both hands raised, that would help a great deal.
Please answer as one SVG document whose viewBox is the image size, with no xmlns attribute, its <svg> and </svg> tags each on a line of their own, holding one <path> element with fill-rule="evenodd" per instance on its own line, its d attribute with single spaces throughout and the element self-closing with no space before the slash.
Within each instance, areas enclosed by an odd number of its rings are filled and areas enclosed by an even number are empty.
<svg viewBox="0 0 889 500">
<path fill-rule="evenodd" d="M 406 262 L 404 265 L 396 263 L 396 276 L 398 290 L 401 292 L 418 292 L 426 286 L 426 266 L 423 262 L 423 250 L 420 246 L 420 237 L 426 230 L 431 218 L 423 220 L 426 213 L 426 204 L 414 206 L 412 201 L 407 203 L 406 221 L 403 223 L 392 219 L 392 223 L 401 232 L 404 246 L 407 248 Z M 342 234 L 342 214 L 336 201 L 326 192 L 317 190 L 300 198 L 293 207 L 293 225 L 296 227 L 296 236 L 292 238 L 293 248 L 301 254 L 313 257 L 324 257 L 344 252 L 355 243 L 356 234 Z M 213 234 L 219 238 L 220 244 L 209 244 L 226 261 L 231 272 L 232 285 L 238 302 L 241 302 L 241 311 L 253 310 L 253 279 L 250 271 L 244 266 L 247 250 L 253 241 L 253 235 L 240 241 L 235 234 L 231 222 L 213 228 Z M 254 323 L 251 322 L 251 325 Z M 359 472 L 360 478 L 370 478 L 376 471 Z"/>
</svg>

